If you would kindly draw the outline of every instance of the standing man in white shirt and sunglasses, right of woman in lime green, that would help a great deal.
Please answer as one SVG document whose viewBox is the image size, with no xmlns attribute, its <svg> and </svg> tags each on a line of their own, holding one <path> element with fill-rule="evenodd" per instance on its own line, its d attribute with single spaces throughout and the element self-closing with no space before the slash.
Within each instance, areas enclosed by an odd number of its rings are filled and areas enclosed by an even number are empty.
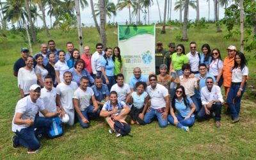
<svg viewBox="0 0 256 160">
<path fill-rule="evenodd" d="M 189 60 L 189 65 L 191 67 L 191 74 L 199 74 L 198 66 L 200 63 L 200 53 L 196 51 L 196 42 L 190 42 L 189 44 L 190 52 L 186 54 Z"/>
</svg>

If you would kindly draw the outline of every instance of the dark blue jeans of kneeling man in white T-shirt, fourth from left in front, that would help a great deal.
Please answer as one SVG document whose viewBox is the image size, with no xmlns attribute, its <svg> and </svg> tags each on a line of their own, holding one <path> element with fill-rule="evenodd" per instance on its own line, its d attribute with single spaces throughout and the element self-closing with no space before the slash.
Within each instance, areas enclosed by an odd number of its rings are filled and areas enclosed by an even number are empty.
<svg viewBox="0 0 256 160">
<path fill-rule="evenodd" d="M 96 112 L 93 111 L 93 106 L 89 106 L 88 108 L 84 109 L 84 111 L 81 111 L 82 115 L 84 116 L 84 118 L 86 118 L 86 120 L 92 120 L 93 118 L 95 118 L 95 116 L 100 114 L 100 109 L 98 109 Z M 83 124 L 82 118 L 77 114 L 77 118 L 79 120 L 79 124 L 81 125 L 81 127 L 84 128 L 88 128 L 90 127 L 90 124 Z"/>
</svg>

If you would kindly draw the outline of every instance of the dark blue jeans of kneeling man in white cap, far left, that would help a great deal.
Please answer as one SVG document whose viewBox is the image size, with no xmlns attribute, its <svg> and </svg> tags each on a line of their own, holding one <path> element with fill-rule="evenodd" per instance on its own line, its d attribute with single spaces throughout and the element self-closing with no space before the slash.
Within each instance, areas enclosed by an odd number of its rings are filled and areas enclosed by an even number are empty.
<svg viewBox="0 0 256 160">
<path fill-rule="evenodd" d="M 47 131 L 51 124 L 51 118 L 36 116 L 34 125 L 15 132 L 17 137 L 15 138 L 14 143 L 17 146 L 22 145 L 31 150 L 37 150 L 40 148 L 40 143 L 36 138 L 35 128 L 37 131 Z"/>
</svg>

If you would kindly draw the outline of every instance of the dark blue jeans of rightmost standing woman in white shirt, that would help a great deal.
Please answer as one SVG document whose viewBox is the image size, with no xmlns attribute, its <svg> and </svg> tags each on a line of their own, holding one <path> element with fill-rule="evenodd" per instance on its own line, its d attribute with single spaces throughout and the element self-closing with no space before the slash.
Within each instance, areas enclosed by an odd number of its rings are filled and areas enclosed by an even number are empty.
<svg viewBox="0 0 256 160">
<path fill-rule="evenodd" d="M 233 119 L 239 117 L 239 112 L 241 108 L 241 99 L 245 91 L 246 85 L 244 84 L 243 91 L 241 92 L 241 96 L 236 97 L 237 92 L 239 91 L 239 88 L 240 88 L 240 84 L 232 84 L 227 97 L 227 103 L 230 109 L 231 117 Z M 233 99 L 235 104 L 233 104 Z"/>
</svg>

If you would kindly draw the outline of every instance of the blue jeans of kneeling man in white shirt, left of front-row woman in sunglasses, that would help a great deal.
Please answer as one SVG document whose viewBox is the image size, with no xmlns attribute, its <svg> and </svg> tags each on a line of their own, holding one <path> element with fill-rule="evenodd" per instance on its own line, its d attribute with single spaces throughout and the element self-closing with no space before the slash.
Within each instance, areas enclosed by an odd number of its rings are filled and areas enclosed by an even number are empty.
<svg viewBox="0 0 256 160">
<path fill-rule="evenodd" d="M 163 119 L 162 113 L 159 113 L 157 109 L 150 108 L 150 112 L 147 112 L 144 116 L 144 122 L 145 124 L 150 124 L 154 118 L 154 116 L 157 116 L 159 127 L 167 127 L 168 121 Z"/>
</svg>

